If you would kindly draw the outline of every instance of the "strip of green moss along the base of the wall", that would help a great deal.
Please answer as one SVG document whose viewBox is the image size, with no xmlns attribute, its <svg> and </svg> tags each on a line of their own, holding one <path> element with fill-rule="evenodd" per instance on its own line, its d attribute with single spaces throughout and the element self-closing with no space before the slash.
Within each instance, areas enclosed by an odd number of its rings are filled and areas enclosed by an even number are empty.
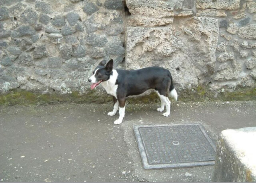
<svg viewBox="0 0 256 183">
<path fill-rule="evenodd" d="M 238 88 L 233 92 L 225 91 L 216 94 L 207 87 L 198 86 L 178 92 L 178 100 L 183 102 L 256 100 L 256 88 Z M 77 91 L 73 91 L 71 94 L 61 94 L 57 92 L 41 94 L 16 89 L 0 95 L 0 105 L 39 105 L 61 102 L 111 103 L 112 97 L 98 90 L 88 90 L 84 94 L 80 94 Z M 127 99 L 127 103 L 156 102 L 160 102 L 160 99 L 154 92 L 150 93 L 150 95 Z"/>
</svg>

